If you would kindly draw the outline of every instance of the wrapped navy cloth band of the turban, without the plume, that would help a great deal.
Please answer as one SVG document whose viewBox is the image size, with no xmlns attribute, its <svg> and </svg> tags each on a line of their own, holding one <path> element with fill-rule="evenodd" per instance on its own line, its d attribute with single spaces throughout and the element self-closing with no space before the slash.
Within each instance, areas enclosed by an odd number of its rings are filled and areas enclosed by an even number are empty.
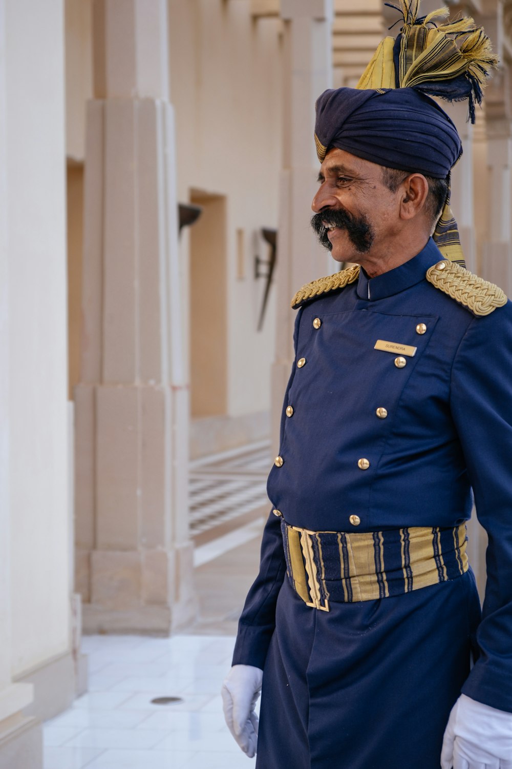
<svg viewBox="0 0 512 769">
<path fill-rule="evenodd" d="M 446 178 L 462 154 L 454 123 L 415 88 L 324 91 L 316 102 L 315 142 L 321 162 L 336 147 L 434 178 Z"/>
</svg>

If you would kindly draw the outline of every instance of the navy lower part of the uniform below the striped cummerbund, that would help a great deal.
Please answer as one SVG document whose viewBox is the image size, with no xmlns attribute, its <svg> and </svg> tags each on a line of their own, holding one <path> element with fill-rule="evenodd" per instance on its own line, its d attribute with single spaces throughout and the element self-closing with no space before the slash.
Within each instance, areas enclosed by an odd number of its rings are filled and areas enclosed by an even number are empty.
<svg viewBox="0 0 512 769">
<path fill-rule="evenodd" d="M 330 610 L 307 607 L 285 577 L 256 769 L 439 769 L 481 617 L 471 570 Z"/>
</svg>

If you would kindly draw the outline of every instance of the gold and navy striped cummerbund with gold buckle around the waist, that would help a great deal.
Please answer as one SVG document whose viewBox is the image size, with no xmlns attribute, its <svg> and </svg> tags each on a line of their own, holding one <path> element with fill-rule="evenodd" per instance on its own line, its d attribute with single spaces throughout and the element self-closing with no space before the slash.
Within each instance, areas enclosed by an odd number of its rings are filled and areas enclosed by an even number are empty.
<svg viewBox="0 0 512 769">
<path fill-rule="evenodd" d="M 460 577 L 467 571 L 466 525 L 347 534 L 281 521 L 286 566 L 308 606 L 375 601 Z"/>
</svg>

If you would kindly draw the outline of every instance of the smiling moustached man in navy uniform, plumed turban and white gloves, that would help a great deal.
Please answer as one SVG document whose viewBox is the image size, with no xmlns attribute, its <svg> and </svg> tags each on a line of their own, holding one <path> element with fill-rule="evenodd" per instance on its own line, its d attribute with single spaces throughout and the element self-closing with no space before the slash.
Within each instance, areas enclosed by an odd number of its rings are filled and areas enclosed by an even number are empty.
<svg viewBox="0 0 512 769">
<path fill-rule="evenodd" d="M 380 75 L 316 105 L 312 225 L 355 266 L 292 304 L 273 514 L 223 685 L 259 769 L 512 767 L 512 305 L 457 264 L 460 139 L 405 87 L 415 72 L 472 105 L 471 78 L 493 62 L 471 20 L 455 45 L 417 5 L 402 0 L 391 46 L 399 88 L 381 87 L 391 65 L 377 55 Z M 489 534 L 483 618 L 471 488 Z"/>
</svg>

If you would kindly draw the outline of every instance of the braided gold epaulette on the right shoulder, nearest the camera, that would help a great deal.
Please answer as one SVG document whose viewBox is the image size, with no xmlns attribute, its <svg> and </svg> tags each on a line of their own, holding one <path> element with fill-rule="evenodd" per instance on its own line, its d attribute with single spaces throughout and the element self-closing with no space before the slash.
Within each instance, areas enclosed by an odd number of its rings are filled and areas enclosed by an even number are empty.
<svg viewBox="0 0 512 769">
<path fill-rule="evenodd" d="M 443 259 L 427 270 L 429 283 L 444 291 L 459 304 L 467 307 L 474 315 L 489 315 L 497 307 L 507 303 L 504 291 L 494 283 L 478 278 L 472 272 Z"/>
</svg>

